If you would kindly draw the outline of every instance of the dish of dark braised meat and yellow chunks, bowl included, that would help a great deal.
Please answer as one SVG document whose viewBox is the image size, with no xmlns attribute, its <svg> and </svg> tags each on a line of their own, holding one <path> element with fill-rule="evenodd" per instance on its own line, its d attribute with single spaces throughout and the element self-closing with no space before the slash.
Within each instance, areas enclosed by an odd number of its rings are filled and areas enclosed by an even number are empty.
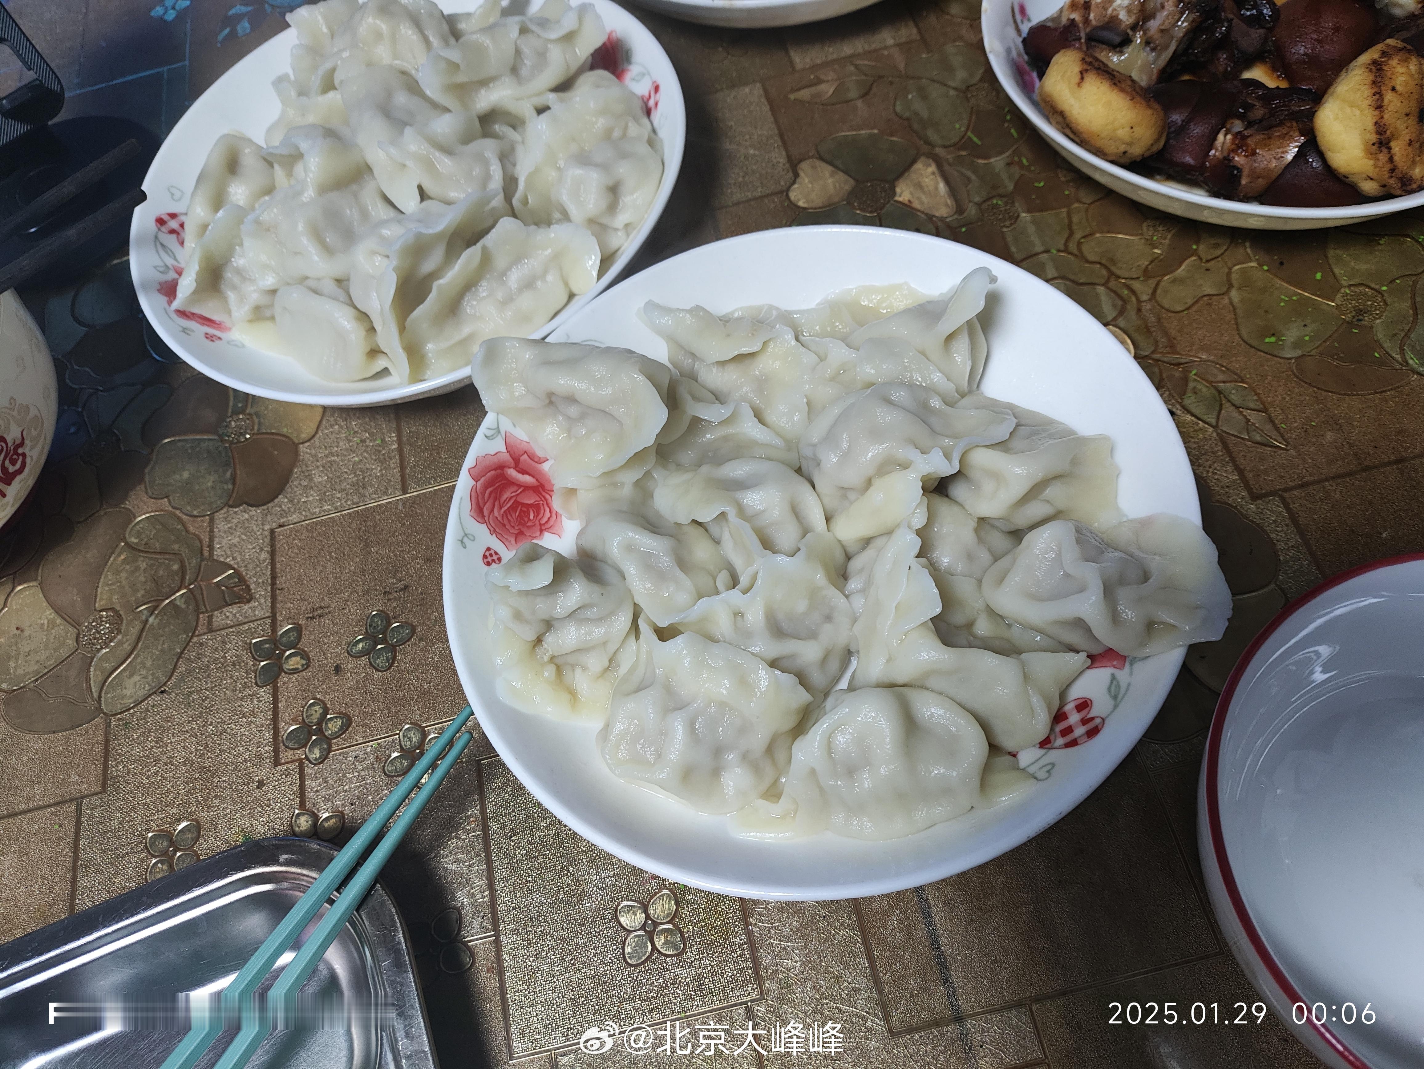
<svg viewBox="0 0 1424 1069">
<path fill-rule="evenodd" d="M 1000 83 L 1079 169 L 1260 229 L 1424 204 L 1421 0 L 987 0 Z"/>
</svg>

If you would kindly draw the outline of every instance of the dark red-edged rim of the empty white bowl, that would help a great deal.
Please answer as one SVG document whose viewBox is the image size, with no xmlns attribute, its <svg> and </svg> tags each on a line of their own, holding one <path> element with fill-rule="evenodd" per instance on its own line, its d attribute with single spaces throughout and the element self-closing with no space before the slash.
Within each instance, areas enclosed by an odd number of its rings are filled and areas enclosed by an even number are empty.
<svg viewBox="0 0 1424 1069">
<path fill-rule="evenodd" d="M 1232 673 L 1226 678 L 1226 686 L 1222 688 L 1222 695 L 1216 702 L 1216 712 L 1212 715 L 1212 726 L 1206 736 L 1206 754 L 1202 759 L 1200 797 L 1202 810 L 1205 810 L 1202 814 L 1205 817 L 1203 853 L 1206 846 L 1210 847 L 1210 855 L 1205 857 L 1203 861 L 1210 870 L 1213 870 L 1216 878 L 1220 880 L 1222 890 L 1230 907 L 1232 918 L 1245 934 L 1252 955 L 1260 967 L 1265 968 L 1266 974 L 1280 989 L 1280 994 L 1292 1005 L 1303 1004 L 1306 1002 L 1306 998 L 1300 994 L 1284 967 L 1272 952 L 1270 947 L 1266 944 L 1265 935 L 1252 918 L 1250 908 L 1246 905 L 1246 898 L 1242 894 L 1240 885 L 1236 883 L 1230 854 L 1226 848 L 1226 830 L 1222 826 L 1220 803 L 1222 743 L 1226 737 L 1226 719 L 1232 712 L 1236 688 L 1240 685 L 1242 679 L 1246 678 L 1246 673 L 1255 666 L 1257 655 L 1266 643 L 1270 642 L 1272 636 L 1283 631 L 1292 619 L 1309 609 L 1321 596 L 1330 594 L 1339 586 L 1358 579 L 1363 575 L 1420 562 L 1424 562 L 1424 551 L 1398 554 L 1378 561 L 1367 561 L 1366 564 L 1343 571 L 1339 575 L 1331 575 L 1319 586 L 1312 588 L 1296 601 L 1286 605 L 1265 628 L 1260 629 L 1256 638 L 1252 639 L 1250 645 L 1246 646 L 1246 651 L 1240 655 L 1240 659 L 1236 662 Z M 1239 949 L 1237 954 L 1243 949 L 1245 948 Z M 1319 1041 L 1344 1065 L 1350 1066 L 1350 1069 L 1370 1069 L 1370 1065 L 1360 1058 L 1360 1055 L 1357 1055 L 1344 1042 L 1344 1039 L 1329 1026 L 1327 1022 L 1316 1021 L 1314 1015 L 1306 1015 L 1306 1025 L 1309 1025 Z"/>
</svg>

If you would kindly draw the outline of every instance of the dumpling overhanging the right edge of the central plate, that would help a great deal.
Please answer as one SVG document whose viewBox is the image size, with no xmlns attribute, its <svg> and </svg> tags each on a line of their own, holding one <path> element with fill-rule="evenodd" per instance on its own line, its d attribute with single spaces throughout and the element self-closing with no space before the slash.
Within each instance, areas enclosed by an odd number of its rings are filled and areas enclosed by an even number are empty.
<svg viewBox="0 0 1424 1069">
<path fill-rule="evenodd" d="M 1168 512 L 1104 532 L 1057 520 L 984 575 L 994 611 L 1072 649 L 1151 656 L 1222 636 L 1232 595 L 1216 547 Z"/>
</svg>

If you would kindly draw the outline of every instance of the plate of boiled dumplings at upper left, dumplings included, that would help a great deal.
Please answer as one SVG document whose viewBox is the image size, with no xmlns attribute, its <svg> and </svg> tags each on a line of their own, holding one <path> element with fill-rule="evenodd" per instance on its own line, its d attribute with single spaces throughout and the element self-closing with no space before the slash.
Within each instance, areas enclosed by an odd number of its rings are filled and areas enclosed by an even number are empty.
<svg viewBox="0 0 1424 1069">
<path fill-rule="evenodd" d="M 246 393 L 454 390 L 611 285 L 678 177 L 682 90 L 611 0 L 322 0 L 188 110 L 144 179 L 145 316 Z"/>
</svg>

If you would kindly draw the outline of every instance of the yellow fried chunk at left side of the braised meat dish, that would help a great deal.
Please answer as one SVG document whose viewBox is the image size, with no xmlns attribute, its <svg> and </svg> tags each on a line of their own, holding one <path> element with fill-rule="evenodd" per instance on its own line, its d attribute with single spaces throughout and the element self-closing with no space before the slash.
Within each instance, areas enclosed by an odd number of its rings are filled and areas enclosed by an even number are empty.
<svg viewBox="0 0 1424 1069">
<path fill-rule="evenodd" d="M 1077 48 L 1054 56 L 1038 104 L 1058 130 L 1114 164 L 1149 157 L 1166 141 L 1162 105 L 1126 74 Z"/>
</svg>

